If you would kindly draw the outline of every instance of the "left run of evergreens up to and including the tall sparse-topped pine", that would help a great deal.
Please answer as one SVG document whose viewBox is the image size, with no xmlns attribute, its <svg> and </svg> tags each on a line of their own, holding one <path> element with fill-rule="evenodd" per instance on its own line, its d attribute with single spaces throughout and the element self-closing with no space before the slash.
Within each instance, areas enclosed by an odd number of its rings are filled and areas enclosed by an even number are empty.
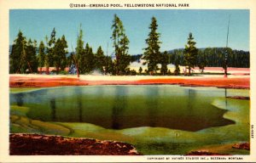
<svg viewBox="0 0 256 163">
<path fill-rule="evenodd" d="M 46 74 L 49 74 L 49 67 L 55 67 L 56 74 L 59 74 L 66 67 L 74 67 L 78 76 L 90 74 L 93 70 L 112 75 L 134 74 L 134 70 L 128 68 L 131 62 L 131 55 L 128 53 L 129 39 L 125 35 L 122 21 L 116 14 L 114 14 L 111 29 L 115 59 L 112 59 L 112 56 L 106 56 L 101 46 L 97 48 L 96 53 L 93 53 L 88 42 L 84 47 L 81 26 L 77 46 L 69 56 L 65 36 L 56 38 L 55 28 L 50 33 L 50 37 L 46 36 L 44 41 L 40 42 L 39 47 L 36 41 L 32 43 L 29 39 L 27 42 L 26 37 L 19 31 L 9 54 L 9 72 L 23 74 L 39 71 L 41 73 L 44 67 Z"/>
</svg>

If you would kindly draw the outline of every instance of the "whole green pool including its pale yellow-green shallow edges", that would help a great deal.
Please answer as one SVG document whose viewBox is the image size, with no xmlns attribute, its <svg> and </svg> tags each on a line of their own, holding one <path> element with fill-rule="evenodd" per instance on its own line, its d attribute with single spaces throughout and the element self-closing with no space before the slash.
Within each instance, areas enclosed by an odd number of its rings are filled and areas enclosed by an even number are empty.
<svg viewBox="0 0 256 163">
<path fill-rule="evenodd" d="M 86 86 L 10 89 L 10 132 L 133 144 L 143 155 L 185 155 L 249 142 L 249 90 L 216 87 Z M 230 145 L 231 144 L 231 145 Z"/>
</svg>

